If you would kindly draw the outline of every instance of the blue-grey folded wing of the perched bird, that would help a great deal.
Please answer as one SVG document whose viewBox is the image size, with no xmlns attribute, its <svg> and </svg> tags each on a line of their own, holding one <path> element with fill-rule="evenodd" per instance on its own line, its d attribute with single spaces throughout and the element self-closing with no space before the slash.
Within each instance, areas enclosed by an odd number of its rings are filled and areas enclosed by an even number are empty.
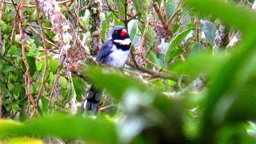
<svg viewBox="0 0 256 144">
<path fill-rule="evenodd" d="M 98 54 L 96 56 L 96 61 L 105 64 L 107 62 L 107 57 L 112 52 L 113 42 L 111 40 L 108 40 L 103 43 L 101 49 L 98 51 Z"/>
</svg>

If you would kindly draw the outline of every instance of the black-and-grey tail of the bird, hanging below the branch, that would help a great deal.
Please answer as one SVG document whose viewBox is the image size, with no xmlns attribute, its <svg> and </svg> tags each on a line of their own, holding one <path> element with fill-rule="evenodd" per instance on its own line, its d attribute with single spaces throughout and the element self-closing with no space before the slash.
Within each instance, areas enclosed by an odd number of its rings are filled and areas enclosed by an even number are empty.
<svg viewBox="0 0 256 144">
<path fill-rule="evenodd" d="M 101 94 L 101 91 L 96 90 L 94 86 L 90 86 L 90 90 L 86 98 L 86 110 L 94 112 L 98 110 Z"/>
</svg>

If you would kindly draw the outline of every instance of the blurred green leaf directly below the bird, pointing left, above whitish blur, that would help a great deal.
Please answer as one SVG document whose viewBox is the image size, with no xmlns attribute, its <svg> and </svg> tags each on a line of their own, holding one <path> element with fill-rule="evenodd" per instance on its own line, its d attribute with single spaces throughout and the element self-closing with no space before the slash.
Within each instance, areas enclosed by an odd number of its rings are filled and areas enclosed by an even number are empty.
<svg viewBox="0 0 256 144">
<path fill-rule="evenodd" d="M 138 79 L 122 75 L 116 70 L 90 66 L 82 71 L 82 74 L 86 74 L 99 89 L 106 89 L 118 102 L 129 90 L 139 90 L 141 93 L 147 93 L 144 94 L 146 98 L 154 99 L 154 106 L 159 109 L 168 110 L 167 107 L 171 106 L 171 98 L 167 98 L 158 89 L 150 89 L 149 86 L 142 84 Z"/>
</svg>

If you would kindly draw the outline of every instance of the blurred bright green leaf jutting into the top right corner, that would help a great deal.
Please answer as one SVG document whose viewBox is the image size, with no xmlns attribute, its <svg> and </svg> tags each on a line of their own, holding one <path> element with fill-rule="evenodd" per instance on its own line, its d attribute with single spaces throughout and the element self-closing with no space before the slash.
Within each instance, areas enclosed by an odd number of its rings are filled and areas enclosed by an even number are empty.
<svg viewBox="0 0 256 144">
<path fill-rule="evenodd" d="M 256 17 L 252 10 L 236 6 L 234 2 L 222 0 L 185 0 L 198 14 L 210 15 L 211 18 L 220 18 L 228 26 L 250 32 L 256 27 Z M 234 18 L 235 16 L 235 18 Z"/>
</svg>

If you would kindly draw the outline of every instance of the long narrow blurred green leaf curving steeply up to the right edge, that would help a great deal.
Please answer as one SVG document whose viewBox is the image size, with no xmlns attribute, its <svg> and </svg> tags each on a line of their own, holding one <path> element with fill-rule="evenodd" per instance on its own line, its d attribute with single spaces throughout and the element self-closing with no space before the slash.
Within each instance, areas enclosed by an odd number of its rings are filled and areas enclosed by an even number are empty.
<svg viewBox="0 0 256 144">
<path fill-rule="evenodd" d="M 223 62 L 223 65 L 219 66 L 212 76 L 209 92 L 204 103 L 205 110 L 202 118 L 202 132 L 204 134 L 213 134 L 212 129 L 216 124 L 212 117 L 214 108 L 219 99 L 230 90 L 230 86 L 235 82 L 235 76 L 238 74 L 240 67 L 246 62 L 248 56 L 252 54 L 255 42 L 255 35 L 248 35 L 245 41 L 236 48 L 234 54 L 226 62 Z"/>
</svg>

